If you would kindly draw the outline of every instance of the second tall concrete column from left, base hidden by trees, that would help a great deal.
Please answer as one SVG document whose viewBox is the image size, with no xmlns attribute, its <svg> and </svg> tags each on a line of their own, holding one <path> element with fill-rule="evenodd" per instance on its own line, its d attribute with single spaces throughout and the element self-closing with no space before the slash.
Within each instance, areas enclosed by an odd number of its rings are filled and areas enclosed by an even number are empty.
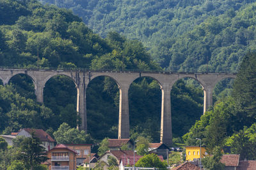
<svg viewBox="0 0 256 170">
<path fill-rule="evenodd" d="M 86 114 L 86 85 L 77 85 L 77 113 L 81 118 L 79 130 L 87 133 L 87 114 Z"/>
</svg>

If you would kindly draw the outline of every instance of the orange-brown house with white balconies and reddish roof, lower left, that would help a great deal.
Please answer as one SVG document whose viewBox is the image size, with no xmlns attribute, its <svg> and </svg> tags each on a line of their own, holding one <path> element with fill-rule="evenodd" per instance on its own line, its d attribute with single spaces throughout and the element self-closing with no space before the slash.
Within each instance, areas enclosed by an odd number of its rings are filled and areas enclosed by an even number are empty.
<svg viewBox="0 0 256 170">
<path fill-rule="evenodd" d="M 63 144 L 58 144 L 47 152 L 47 158 L 51 165 L 49 170 L 75 170 L 76 151 Z"/>
</svg>

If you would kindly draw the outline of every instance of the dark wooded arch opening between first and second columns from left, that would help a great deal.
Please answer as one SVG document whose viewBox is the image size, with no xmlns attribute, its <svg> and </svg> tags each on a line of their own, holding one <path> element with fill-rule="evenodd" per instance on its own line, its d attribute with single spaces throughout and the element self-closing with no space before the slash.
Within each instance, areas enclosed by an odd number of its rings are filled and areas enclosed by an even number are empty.
<svg viewBox="0 0 256 170">
<path fill-rule="evenodd" d="M 52 128 L 58 129 L 63 122 L 77 127 L 81 119 L 77 115 L 77 85 L 72 78 L 58 74 L 47 79 L 44 87 L 44 105 L 54 114 Z"/>
</svg>

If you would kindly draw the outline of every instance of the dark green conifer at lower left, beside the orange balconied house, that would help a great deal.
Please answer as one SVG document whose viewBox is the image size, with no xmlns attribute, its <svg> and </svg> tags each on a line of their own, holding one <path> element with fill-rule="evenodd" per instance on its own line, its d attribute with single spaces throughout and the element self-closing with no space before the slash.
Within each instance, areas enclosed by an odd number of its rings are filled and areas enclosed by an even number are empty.
<svg viewBox="0 0 256 170">
<path fill-rule="evenodd" d="M 18 158 L 23 162 L 26 169 L 33 170 L 42 162 L 47 160 L 45 157 L 45 148 L 39 138 L 36 138 L 35 133 L 31 133 L 31 138 L 25 138 L 19 148 Z"/>
</svg>

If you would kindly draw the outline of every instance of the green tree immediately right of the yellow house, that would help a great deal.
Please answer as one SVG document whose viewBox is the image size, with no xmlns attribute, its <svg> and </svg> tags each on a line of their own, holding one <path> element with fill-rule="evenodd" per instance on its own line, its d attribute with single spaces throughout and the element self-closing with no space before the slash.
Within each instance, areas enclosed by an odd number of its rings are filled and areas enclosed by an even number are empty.
<svg viewBox="0 0 256 170">
<path fill-rule="evenodd" d="M 205 169 L 215 170 L 215 169 L 225 169 L 225 164 L 220 162 L 222 157 L 221 147 L 216 146 L 212 152 L 213 155 L 205 157 L 202 159 L 202 164 Z"/>
</svg>

